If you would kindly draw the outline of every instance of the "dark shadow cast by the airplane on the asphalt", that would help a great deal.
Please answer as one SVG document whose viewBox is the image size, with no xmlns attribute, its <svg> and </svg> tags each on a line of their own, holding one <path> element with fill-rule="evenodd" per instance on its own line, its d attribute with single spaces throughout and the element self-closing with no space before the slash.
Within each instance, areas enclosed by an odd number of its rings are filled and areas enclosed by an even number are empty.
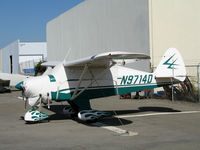
<svg viewBox="0 0 200 150">
<path fill-rule="evenodd" d="M 55 114 L 52 114 L 49 116 L 49 121 L 51 120 L 67 120 L 67 119 L 72 119 L 78 123 L 87 125 L 87 126 L 96 126 L 93 124 L 94 122 L 85 122 L 79 120 L 77 117 L 69 117 L 67 115 L 64 115 L 62 113 L 63 108 L 66 105 L 51 105 L 50 111 L 55 112 Z M 43 106 L 45 109 L 48 109 L 47 106 Z M 117 118 L 115 115 L 125 115 L 125 114 L 136 114 L 136 113 L 142 113 L 142 112 L 180 112 L 179 110 L 175 110 L 172 108 L 168 107 L 139 107 L 138 110 L 113 110 L 113 111 L 106 111 L 111 114 L 111 117 L 105 117 L 105 118 L 100 118 L 98 122 L 101 122 L 105 125 L 109 126 L 122 126 L 122 125 L 127 125 L 127 124 L 132 124 L 133 121 L 124 119 L 124 118 Z"/>
</svg>

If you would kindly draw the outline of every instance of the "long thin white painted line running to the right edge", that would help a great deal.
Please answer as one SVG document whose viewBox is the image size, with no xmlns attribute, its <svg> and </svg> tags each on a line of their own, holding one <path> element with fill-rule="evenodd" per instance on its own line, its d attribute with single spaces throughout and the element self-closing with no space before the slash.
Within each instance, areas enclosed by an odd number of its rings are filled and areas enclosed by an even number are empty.
<svg viewBox="0 0 200 150">
<path fill-rule="evenodd" d="M 200 113 L 200 111 L 163 112 L 163 113 L 150 113 L 150 114 L 140 114 L 140 115 L 118 115 L 115 117 L 117 117 L 117 118 L 136 118 L 136 117 L 147 117 L 147 116 L 194 114 L 194 113 Z"/>
</svg>

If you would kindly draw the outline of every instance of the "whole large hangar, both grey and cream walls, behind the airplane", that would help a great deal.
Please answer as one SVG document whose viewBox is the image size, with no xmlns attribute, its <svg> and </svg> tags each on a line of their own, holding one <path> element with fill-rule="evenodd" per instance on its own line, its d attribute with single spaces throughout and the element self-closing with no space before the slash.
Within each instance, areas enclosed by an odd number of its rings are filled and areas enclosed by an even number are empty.
<svg viewBox="0 0 200 150">
<path fill-rule="evenodd" d="M 175 47 L 188 75 L 196 78 L 198 6 L 199 0 L 85 0 L 47 23 L 48 60 L 63 60 L 69 49 L 68 60 L 120 50 L 150 54 L 155 69 L 164 52 Z"/>
</svg>

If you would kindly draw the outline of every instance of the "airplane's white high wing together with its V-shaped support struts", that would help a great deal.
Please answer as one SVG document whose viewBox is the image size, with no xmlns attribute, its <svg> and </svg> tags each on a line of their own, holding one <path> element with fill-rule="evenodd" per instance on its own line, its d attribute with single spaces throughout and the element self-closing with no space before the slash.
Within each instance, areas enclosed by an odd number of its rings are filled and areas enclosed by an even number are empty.
<svg viewBox="0 0 200 150">
<path fill-rule="evenodd" d="M 77 83 L 77 86 L 75 88 L 75 91 L 72 95 L 71 100 L 76 99 L 81 93 L 83 93 L 85 90 L 88 89 L 89 86 L 91 86 L 94 82 L 96 82 L 97 79 L 99 79 L 100 77 L 102 77 L 107 70 L 109 70 L 112 66 L 114 66 L 115 64 L 119 64 L 119 61 L 122 62 L 122 64 L 124 64 L 124 60 L 143 60 L 143 59 L 149 59 L 150 57 L 148 55 L 145 54 L 141 54 L 141 53 L 130 53 L 130 52 L 106 52 L 106 53 L 101 53 L 98 55 L 94 55 L 91 57 L 86 57 L 86 58 L 82 58 L 82 59 L 78 59 L 75 61 L 64 61 L 63 62 L 63 66 L 65 67 L 81 67 L 82 68 L 82 73 L 79 77 L 79 81 Z M 43 66 L 55 66 L 57 65 L 58 62 L 46 62 L 43 63 Z M 59 65 L 58 65 L 59 66 Z M 89 73 L 91 73 L 90 69 L 92 67 L 101 67 L 101 72 L 99 73 L 98 76 L 93 76 L 93 74 L 91 74 L 92 76 L 92 80 L 86 85 L 84 86 L 83 89 L 81 89 L 79 91 L 79 88 L 81 86 L 81 82 L 83 80 L 83 77 L 85 75 L 85 73 L 87 72 L 87 70 L 89 70 Z M 81 106 L 82 107 L 82 106 Z M 90 108 L 90 104 L 88 103 L 87 109 Z"/>
</svg>

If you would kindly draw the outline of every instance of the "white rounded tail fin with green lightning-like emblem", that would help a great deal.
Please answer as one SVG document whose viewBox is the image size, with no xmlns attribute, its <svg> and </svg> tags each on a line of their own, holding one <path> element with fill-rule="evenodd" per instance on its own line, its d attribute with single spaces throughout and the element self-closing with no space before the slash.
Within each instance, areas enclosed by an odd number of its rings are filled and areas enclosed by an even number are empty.
<svg viewBox="0 0 200 150">
<path fill-rule="evenodd" d="M 162 57 L 155 72 L 156 79 L 184 81 L 186 77 L 185 64 L 176 48 L 169 48 Z"/>
</svg>

